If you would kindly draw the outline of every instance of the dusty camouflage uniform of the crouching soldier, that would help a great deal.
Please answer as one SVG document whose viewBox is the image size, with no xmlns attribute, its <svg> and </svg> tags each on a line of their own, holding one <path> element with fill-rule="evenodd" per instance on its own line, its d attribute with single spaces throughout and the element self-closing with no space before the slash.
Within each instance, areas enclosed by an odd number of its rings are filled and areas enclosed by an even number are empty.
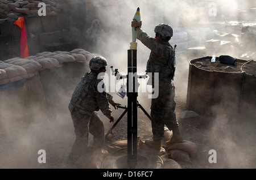
<svg viewBox="0 0 256 180">
<path fill-rule="evenodd" d="M 94 145 L 101 147 L 104 144 L 104 125 L 96 111 L 101 110 L 109 118 L 112 113 L 109 103 L 113 104 L 114 101 L 106 91 L 98 91 L 98 83 L 102 79 L 97 79 L 97 76 L 96 73 L 90 72 L 82 77 L 68 106 L 76 134 L 75 143 L 69 153 L 71 162 L 75 162 L 85 151 L 88 145 L 88 132 L 93 135 Z"/>
</svg>

